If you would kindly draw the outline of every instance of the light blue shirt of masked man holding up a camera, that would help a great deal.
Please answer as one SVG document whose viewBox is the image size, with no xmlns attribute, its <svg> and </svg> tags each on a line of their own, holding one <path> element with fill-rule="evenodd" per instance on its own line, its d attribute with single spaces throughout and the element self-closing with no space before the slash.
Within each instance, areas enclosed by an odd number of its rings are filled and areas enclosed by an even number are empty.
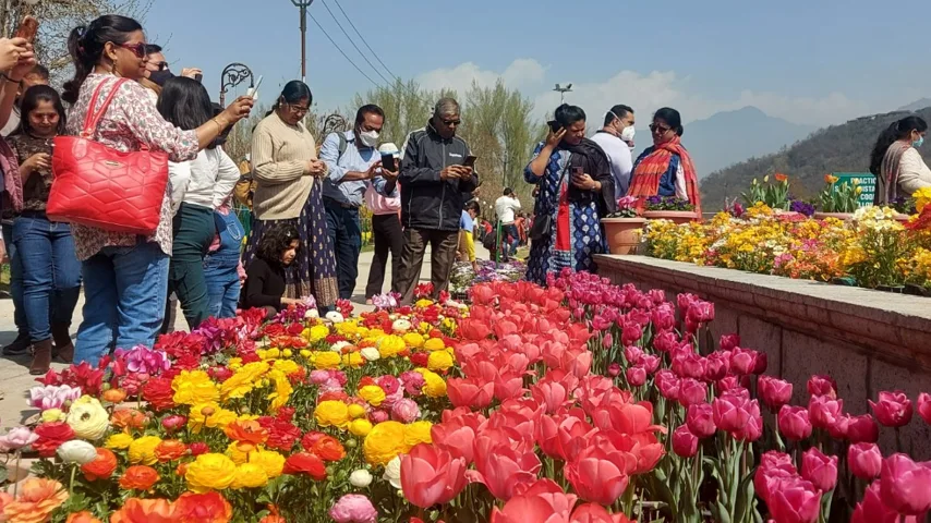
<svg viewBox="0 0 931 523">
<path fill-rule="evenodd" d="M 343 133 L 343 136 L 346 136 L 347 143 L 342 157 L 339 156 L 339 135 L 337 133 L 331 133 L 327 136 L 324 145 L 321 147 L 321 160 L 329 169 L 327 177 L 324 179 L 324 197 L 335 199 L 340 204 L 361 207 L 365 190 L 368 188 L 370 183 L 375 186 L 375 191 L 378 194 L 387 197 L 397 197 L 397 186 L 392 193 L 385 193 L 387 182 L 382 177 L 375 177 L 371 181 L 342 181 L 347 172 L 365 172 L 373 163 L 382 159 L 382 155 L 374 147 L 362 147 L 361 149 L 356 147 L 355 133 L 353 131 L 347 131 Z M 338 161 L 337 158 L 339 159 Z"/>
</svg>

